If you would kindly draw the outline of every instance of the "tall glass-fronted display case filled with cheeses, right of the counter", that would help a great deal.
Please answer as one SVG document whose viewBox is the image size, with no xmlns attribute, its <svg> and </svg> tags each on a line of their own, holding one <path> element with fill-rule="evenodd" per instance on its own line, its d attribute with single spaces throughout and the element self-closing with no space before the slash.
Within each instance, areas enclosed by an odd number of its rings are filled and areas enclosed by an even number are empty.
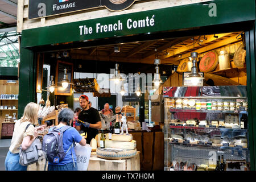
<svg viewBox="0 0 256 182">
<path fill-rule="evenodd" d="M 250 170 L 246 86 L 165 87 L 163 94 L 164 170 Z"/>
</svg>

